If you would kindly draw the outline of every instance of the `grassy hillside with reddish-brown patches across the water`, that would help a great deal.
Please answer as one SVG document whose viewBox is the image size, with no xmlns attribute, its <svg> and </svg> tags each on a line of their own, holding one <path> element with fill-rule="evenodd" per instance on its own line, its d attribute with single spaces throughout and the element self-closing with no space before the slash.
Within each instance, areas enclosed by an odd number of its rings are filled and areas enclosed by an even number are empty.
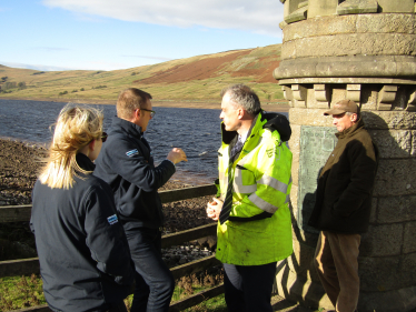
<svg viewBox="0 0 416 312">
<path fill-rule="evenodd" d="M 122 89 L 136 87 L 158 102 L 218 103 L 225 85 L 244 82 L 264 103 L 276 103 L 283 101 L 281 88 L 273 78 L 280 50 L 281 44 L 274 44 L 116 71 L 40 72 L 0 66 L 0 99 L 113 103 Z"/>
</svg>

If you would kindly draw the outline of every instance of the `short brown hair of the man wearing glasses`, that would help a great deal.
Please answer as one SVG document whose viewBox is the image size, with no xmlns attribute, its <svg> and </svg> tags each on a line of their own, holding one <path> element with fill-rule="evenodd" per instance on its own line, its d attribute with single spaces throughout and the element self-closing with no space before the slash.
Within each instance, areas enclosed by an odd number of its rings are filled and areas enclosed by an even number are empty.
<svg viewBox="0 0 416 312">
<path fill-rule="evenodd" d="M 122 90 L 117 100 L 117 115 L 122 119 L 130 119 L 135 110 L 141 109 L 151 99 L 148 92 L 137 88 Z"/>
</svg>

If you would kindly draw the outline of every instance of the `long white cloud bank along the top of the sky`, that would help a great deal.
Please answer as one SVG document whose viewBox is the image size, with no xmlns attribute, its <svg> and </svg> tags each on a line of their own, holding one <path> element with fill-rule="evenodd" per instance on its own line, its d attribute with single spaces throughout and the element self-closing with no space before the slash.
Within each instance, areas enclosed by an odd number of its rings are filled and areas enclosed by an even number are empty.
<svg viewBox="0 0 416 312">
<path fill-rule="evenodd" d="M 125 21 L 189 28 L 238 29 L 278 36 L 284 6 L 277 0 L 43 0 L 50 8 Z"/>
</svg>

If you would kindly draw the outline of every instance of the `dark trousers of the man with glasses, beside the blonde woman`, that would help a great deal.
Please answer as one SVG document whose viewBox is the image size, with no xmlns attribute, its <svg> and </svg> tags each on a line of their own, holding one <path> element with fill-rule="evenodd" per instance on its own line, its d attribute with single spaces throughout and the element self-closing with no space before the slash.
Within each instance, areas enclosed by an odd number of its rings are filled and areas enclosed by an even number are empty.
<svg viewBox="0 0 416 312">
<path fill-rule="evenodd" d="M 136 266 L 136 288 L 131 312 L 169 311 L 175 290 L 172 273 L 161 259 L 161 232 L 158 229 L 126 231 Z"/>
</svg>

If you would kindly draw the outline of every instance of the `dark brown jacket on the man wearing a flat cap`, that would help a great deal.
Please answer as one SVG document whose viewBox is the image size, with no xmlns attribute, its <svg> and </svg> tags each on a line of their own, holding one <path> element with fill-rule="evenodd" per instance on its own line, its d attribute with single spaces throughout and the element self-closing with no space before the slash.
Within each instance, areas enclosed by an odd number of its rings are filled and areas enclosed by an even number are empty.
<svg viewBox="0 0 416 312">
<path fill-rule="evenodd" d="M 340 233 L 365 233 L 378 151 L 361 119 L 335 134 L 338 143 L 323 168 L 309 225 Z"/>
</svg>

